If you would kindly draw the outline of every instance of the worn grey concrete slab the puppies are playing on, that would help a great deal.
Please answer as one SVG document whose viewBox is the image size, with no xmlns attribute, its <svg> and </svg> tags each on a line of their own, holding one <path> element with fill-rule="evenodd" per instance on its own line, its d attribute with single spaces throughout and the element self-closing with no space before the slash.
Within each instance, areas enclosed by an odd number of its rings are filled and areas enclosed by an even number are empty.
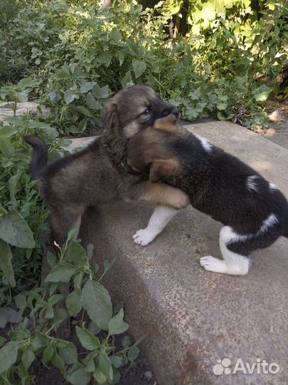
<svg viewBox="0 0 288 385">
<path fill-rule="evenodd" d="M 245 160 L 288 195 L 284 148 L 232 123 L 188 129 Z M 115 301 L 124 301 L 134 336 L 146 334 L 142 349 L 159 384 L 286 385 L 287 240 L 255 252 L 247 276 L 210 273 L 199 259 L 207 254 L 220 257 L 221 225 L 189 207 L 151 245 L 139 247 L 132 235 L 146 226 L 151 211 L 144 203 L 97 207 L 83 218 L 80 237 L 84 244 L 95 245 L 95 261 L 117 257 L 104 284 Z M 230 366 L 219 374 L 223 359 L 230 359 L 223 361 Z M 264 360 L 279 365 L 279 372 L 265 374 Z M 244 366 L 232 374 L 237 361 Z M 256 364 L 252 374 L 243 373 L 245 363 Z"/>
</svg>

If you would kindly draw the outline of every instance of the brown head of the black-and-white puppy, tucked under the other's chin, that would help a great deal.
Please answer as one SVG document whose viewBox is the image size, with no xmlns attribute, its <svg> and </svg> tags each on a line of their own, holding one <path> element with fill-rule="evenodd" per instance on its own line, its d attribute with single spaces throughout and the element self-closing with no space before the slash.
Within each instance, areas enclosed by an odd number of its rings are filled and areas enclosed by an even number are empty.
<svg viewBox="0 0 288 385">
<path fill-rule="evenodd" d="M 151 183 L 180 173 L 180 162 L 171 150 L 171 143 L 175 140 L 178 130 L 176 118 L 170 114 L 156 120 L 151 128 L 135 135 L 127 145 L 129 166 L 139 173 L 146 173 L 149 167 Z"/>
</svg>

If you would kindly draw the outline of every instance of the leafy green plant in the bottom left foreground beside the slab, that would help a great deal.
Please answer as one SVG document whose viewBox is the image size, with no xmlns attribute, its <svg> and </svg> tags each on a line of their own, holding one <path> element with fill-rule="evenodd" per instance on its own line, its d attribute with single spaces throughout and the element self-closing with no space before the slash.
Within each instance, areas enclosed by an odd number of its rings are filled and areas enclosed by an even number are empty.
<svg viewBox="0 0 288 385">
<path fill-rule="evenodd" d="M 141 339 L 131 344 L 129 337 L 124 337 L 122 349 L 115 346 L 115 337 L 129 326 L 123 320 L 122 305 L 113 309 L 110 294 L 100 284 L 115 261 L 105 262 L 104 273 L 97 279 L 99 266 L 90 262 L 92 245 L 87 246 L 86 252 L 79 242 L 72 241 L 74 233 L 70 231 L 58 257 L 48 252 L 51 270 L 46 287 L 14 297 L 21 321 L 9 332 L 8 339 L 2 341 L 1 384 L 31 384 L 35 379 L 31 366 L 38 357 L 45 364 L 57 366 L 70 384 L 85 385 L 92 379 L 97 384 L 117 384 L 119 368 L 134 364 L 137 359 L 137 344 Z M 58 308 L 57 304 L 64 299 L 58 294 L 63 283 L 70 284 L 71 289 L 65 307 Z M 82 345 L 80 351 L 72 342 L 54 335 L 68 314 L 77 317 L 75 331 Z"/>
</svg>

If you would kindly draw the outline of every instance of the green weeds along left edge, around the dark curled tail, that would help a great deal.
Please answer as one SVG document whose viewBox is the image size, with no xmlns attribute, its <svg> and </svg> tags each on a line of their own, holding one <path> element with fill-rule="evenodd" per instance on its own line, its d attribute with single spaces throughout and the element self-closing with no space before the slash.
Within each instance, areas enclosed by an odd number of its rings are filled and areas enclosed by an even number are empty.
<svg viewBox="0 0 288 385">
<path fill-rule="evenodd" d="M 36 84 L 23 79 L 16 86 L 0 88 L 1 96 L 14 98 L 14 115 L 19 98 L 26 99 Z M 58 139 L 55 127 L 29 116 L 14 116 L 0 122 L 0 303 L 11 301 L 11 287 L 21 290 L 37 282 L 48 231 L 48 210 L 36 181 L 28 175 L 31 155 L 22 140 L 26 134 L 41 135 L 50 144 L 50 160 L 60 156 L 62 146 L 68 144 Z"/>
</svg>

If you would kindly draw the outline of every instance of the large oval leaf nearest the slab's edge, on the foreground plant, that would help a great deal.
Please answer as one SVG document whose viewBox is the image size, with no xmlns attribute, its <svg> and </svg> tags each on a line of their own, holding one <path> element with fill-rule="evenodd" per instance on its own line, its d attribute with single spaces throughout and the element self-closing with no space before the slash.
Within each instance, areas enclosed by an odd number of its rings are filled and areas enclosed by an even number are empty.
<svg viewBox="0 0 288 385">
<path fill-rule="evenodd" d="M 112 318 L 112 302 L 107 289 L 89 279 L 82 289 L 81 301 L 90 319 L 102 330 L 108 330 Z"/>
</svg>

